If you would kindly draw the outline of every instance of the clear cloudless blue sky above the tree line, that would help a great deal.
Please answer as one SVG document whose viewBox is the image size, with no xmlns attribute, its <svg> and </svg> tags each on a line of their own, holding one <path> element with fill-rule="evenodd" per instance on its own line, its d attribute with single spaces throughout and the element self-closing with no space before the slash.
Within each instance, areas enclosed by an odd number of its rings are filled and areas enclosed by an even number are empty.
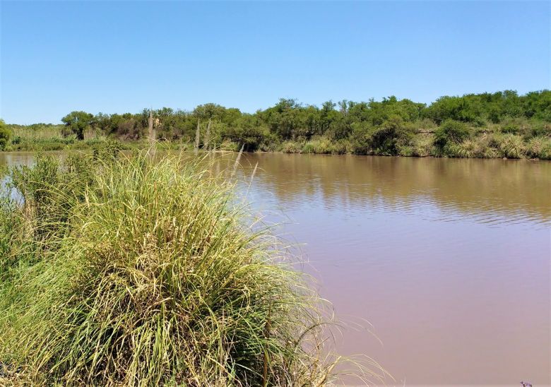
<svg viewBox="0 0 551 387">
<path fill-rule="evenodd" d="M 551 88 L 550 1 L 1 1 L 0 117 Z"/>
</svg>

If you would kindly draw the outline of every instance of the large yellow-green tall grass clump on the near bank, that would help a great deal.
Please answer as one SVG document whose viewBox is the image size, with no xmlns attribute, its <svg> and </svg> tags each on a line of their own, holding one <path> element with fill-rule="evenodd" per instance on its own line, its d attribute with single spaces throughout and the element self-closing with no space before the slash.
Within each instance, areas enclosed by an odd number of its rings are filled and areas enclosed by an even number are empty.
<svg viewBox="0 0 551 387">
<path fill-rule="evenodd" d="M 0 364 L 64 386 L 330 381 L 319 299 L 230 181 L 180 156 L 91 165 L 81 190 L 42 187 L 70 208 L 0 282 Z"/>
</svg>

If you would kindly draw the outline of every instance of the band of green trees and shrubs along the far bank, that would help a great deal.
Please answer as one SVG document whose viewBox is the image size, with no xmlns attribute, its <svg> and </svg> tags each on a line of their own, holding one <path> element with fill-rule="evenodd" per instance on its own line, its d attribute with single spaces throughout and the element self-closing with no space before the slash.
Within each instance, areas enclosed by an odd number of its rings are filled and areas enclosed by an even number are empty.
<svg viewBox="0 0 551 387">
<path fill-rule="evenodd" d="M 0 150 L 89 149 L 107 138 L 146 148 L 153 133 L 175 150 L 551 160 L 551 90 L 444 96 L 430 105 L 396 97 L 321 107 L 281 99 L 254 114 L 215 104 L 191 112 L 71 112 L 61 121 L 2 123 Z"/>
</svg>

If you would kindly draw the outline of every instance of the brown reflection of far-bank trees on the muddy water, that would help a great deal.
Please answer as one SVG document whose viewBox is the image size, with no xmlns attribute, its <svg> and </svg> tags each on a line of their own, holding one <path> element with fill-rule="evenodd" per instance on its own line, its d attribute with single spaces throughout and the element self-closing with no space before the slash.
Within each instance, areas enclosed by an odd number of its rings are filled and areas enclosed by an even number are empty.
<svg viewBox="0 0 551 387">
<path fill-rule="evenodd" d="M 262 183 L 285 208 L 315 197 L 352 216 L 369 208 L 435 221 L 549 225 L 551 219 L 550 162 L 249 155 L 250 164 L 257 161 Z"/>
</svg>

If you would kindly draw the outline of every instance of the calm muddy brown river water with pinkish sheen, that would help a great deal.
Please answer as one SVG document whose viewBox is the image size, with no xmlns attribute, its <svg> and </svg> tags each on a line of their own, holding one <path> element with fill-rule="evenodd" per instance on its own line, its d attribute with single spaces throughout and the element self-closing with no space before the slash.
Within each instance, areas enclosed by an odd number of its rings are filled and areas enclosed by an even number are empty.
<svg viewBox="0 0 551 387">
<path fill-rule="evenodd" d="M 551 383 L 551 162 L 251 154 L 246 176 L 256 162 L 249 201 L 304 244 L 348 322 L 340 353 L 397 386 Z"/>
</svg>

